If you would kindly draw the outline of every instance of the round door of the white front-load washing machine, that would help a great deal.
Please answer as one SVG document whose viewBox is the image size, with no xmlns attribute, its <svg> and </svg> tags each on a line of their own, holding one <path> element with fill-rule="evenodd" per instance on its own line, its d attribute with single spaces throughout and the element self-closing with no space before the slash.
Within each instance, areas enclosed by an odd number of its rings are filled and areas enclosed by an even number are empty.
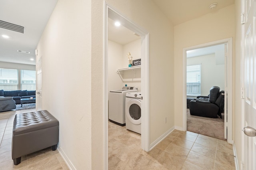
<svg viewBox="0 0 256 170">
<path fill-rule="evenodd" d="M 126 118 L 134 125 L 141 124 L 141 101 L 132 99 L 125 107 Z"/>
</svg>

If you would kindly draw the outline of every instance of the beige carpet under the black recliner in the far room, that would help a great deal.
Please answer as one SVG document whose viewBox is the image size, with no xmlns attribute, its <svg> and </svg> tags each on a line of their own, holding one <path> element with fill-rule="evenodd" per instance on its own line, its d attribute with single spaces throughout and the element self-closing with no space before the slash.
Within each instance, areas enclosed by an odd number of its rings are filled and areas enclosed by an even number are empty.
<svg viewBox="0 0 256 170">
<path fill-rule="evenodd" d="M 224 139 L 224 113 L 222 119 L 190 115 L 187 109 L 187 130 L 214 138 Z"/>
</svg>

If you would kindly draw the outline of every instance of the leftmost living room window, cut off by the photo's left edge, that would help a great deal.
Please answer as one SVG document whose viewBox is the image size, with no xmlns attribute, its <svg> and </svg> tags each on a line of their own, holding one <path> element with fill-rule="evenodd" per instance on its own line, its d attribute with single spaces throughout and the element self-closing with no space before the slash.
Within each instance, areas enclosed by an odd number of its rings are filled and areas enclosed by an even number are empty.
<svg viewBox="0 0 256 170">
<path fill-rule="evenodd" d="M 0 89 L 18 90 L 18 70 L 0 68 Z"/>
</svg>

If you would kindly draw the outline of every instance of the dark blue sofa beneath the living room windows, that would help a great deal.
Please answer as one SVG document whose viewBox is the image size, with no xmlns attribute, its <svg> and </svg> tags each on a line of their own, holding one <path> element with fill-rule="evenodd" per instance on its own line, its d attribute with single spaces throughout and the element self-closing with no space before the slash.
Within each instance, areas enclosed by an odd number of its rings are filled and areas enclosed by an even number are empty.
<svg viewBox="0 0 256 170">
<path fill-rule="evenodd" d="M 0 96 L 3 97 L 13 97 L 13 100 L 16 104 L 20 104 L 21 98 L 30 98 L 30 97 L 36 97 L 36 91 L 35 90 L 11 90 L 11 91 L 5 91 L 0 90 Z"/>
</svg>

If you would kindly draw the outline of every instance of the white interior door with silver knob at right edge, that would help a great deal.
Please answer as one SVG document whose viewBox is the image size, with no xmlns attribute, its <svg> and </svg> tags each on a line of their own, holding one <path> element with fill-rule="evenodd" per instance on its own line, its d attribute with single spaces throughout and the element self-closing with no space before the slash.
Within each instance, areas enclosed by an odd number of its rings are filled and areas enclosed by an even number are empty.
<svg viewBox="0 0 256 170">
<path fill-rule="evenodd" d="M 242 170 L 256 169 L 256 0 L 243 0 L 242 11 L 244 11 L 244 25 L 242 28 L 242 51 L 244 58 L 244 99 L 242 116 L 244 122 L 242 125 L 244 133 L 243 139 L 243 158 L 244 167 Z M 247 134 L 247 135 L 245 135 Z M 251 134 L 251 135 L 250 135 Z M 248 136 L 250 135 L 250 136 Z M 253 137 L 254 136 L 254 137 Z"/>
</svg>

